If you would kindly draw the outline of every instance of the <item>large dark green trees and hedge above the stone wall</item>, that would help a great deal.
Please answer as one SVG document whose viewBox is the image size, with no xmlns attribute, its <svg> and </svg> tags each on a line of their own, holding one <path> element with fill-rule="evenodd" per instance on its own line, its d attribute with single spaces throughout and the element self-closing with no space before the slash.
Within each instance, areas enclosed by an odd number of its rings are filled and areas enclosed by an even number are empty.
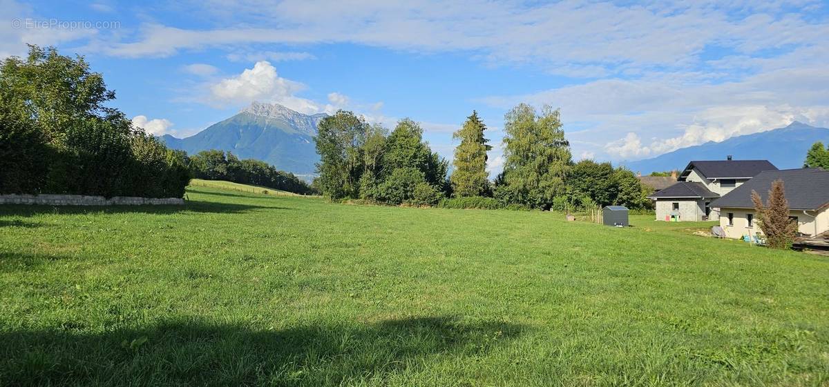
<svg viewBox="0 0 829 387">
<path fill-rule="evenodd" d="M 115 93 L 83 57 L 30 45 L 0 62 L 0 193 L 181 198 L 183 152 L 105 103 Z"/>
</svg>

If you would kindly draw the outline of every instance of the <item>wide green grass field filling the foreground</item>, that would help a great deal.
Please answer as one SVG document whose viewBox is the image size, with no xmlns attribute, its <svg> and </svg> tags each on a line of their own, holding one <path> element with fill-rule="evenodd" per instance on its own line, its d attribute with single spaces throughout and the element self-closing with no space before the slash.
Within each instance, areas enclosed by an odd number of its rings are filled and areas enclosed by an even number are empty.
<svg viewBox="0 0 829 387">
<path fill-rule="evenodd" d="M 829 385 L 825 257 L 652 217 L 187 196 L 0 207 L 0 385 Z"/>
</svg>

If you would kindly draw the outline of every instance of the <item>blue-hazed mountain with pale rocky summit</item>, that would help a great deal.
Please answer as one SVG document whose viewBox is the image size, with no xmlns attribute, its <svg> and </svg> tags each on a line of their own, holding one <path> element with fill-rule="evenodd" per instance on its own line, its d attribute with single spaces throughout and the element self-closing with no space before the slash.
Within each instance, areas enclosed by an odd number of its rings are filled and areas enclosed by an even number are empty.
<svg viewBox="0 0 829 387">
<path fill-rule="evenodd" d="M 161 136 L 167 146 L 188 154 L 219 149 L 242 159 L 263 160 L 278 170 L 313 174 L 319 156 L 313 136 L 327 114 L 305 115 L 279 104 L 252 103 L 235 116 L 186 138 Z"/>
</svg>

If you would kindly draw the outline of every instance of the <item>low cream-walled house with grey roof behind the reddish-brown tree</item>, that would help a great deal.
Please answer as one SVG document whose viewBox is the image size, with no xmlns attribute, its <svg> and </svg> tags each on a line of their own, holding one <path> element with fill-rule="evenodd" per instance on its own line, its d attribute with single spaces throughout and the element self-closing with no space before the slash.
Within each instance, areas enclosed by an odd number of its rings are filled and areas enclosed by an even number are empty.
<svg viewBox="0 0 829 387">
<path fill-rule="evenodd" d="M 789 216 L 797 222 L 797 231 L 817 236 L 829 231 L 829 171 L 820 168 L 797 170 L 768 170 L 710 203 L 720 210 L 720 226 L 725 236 L 740 238 L 761 232 L 755 222 L 756 213 L 751 201 L 752 191 L 763 203 L 775 180 L 783 180 Z"/>
</svg>

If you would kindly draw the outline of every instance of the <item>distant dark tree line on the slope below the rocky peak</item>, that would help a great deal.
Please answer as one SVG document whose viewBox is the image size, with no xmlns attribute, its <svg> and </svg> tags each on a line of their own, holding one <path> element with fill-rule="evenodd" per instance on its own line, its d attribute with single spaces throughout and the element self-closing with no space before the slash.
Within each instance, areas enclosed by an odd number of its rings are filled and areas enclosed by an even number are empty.
<svg viewBox="0 0 829 387">
<path fill-rule="evenodd" d="M 315 193 L 309 184 L 292 173 L 277 170 L 264 161 L 240 160 L 224 150 L 202 150 L 188 157 L 188 165 L 196 179 L 227 180 L 303 195 Z"/>
</svg>

